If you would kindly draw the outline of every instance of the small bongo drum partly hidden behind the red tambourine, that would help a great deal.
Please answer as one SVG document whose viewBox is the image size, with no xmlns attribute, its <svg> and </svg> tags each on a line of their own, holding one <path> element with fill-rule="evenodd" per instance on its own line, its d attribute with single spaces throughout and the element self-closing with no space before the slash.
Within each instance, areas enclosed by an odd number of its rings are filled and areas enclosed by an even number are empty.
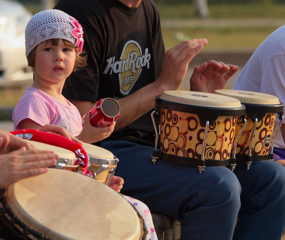
<svg viewBox="0 0 285 240">
<path fill-rule="evenodd" d="M 24 141 L 29 141 L 29 140 L 24 140 Z M 78 163 L 79 158 L 76 157 L 75 153 L 71 152 L 70 150 L 36 141 L 29 141 L 29 143 L 35 146 L 39 150 L 54 151 L 54 153 L 58 154 L 59 159 L 57 159 L 57 163 L 54 166 L 52 166 L 54 168 L 72 171 L 75 170 L 77 167 L 79 167 Z"/>
</svg>

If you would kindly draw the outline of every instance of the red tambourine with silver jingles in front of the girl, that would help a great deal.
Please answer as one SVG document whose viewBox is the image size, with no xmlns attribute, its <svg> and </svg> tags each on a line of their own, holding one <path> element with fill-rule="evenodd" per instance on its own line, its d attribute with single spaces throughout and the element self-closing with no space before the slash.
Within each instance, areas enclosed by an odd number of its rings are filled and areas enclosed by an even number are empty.
<svg viewBox="0 0 285 240">
<path fill-rule="evenodd" d="M 39 132 L 36 129 L 21 129 L 21 130 L 12 131 L 10 133 L 20 138 L 24 138 L 26 140 L 32 140 L 32 141 L 41 142 L 41 143 L 45 143 L 45 144 L 49 144 L 49 145 L 53 145 L 57 147 L 62 147 L 62 148 L 72 151 L 83 162 L 84 167 L 82 168 L 82 174 L 84 175 L 89 174 L 88 155 L 80 144 L 75 143 L 61 135 L 57 135 L 57 134 L 50 133 L 50 132 Z"/>
</svg>

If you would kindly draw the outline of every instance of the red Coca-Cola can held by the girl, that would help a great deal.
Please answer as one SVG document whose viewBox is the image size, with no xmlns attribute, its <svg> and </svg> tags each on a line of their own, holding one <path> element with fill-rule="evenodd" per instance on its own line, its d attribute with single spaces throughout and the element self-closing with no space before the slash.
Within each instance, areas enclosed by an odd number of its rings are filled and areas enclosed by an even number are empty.
<svg viewBox="0 0 285 240">
<path fill-rule="evenodd" d="M 95 127 L 106 127 L 117 120 L 120 113 L 118 102 L 112 98 L 100 99 L 90 110 L 90 123 Z M 85 114 L 86 115 L 86 114 Z M 84 126 L 84 117 L 82 126 Z"/>
</svg>

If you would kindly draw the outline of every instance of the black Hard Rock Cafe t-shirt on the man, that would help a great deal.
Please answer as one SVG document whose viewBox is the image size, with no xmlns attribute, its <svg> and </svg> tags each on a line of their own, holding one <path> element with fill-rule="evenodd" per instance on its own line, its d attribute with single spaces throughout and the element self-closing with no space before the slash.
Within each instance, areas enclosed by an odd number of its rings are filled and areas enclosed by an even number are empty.
<svg viewBox="0 0 285 240">
<path fill-rule="evenodd" d="M 165 57 L 157 7 L 142 0 L 130 8 L 118 0 L 59 0 L 54 7 L 83 27 L 87 66 L 65 81 L 67 99 L 121 99 L 155 81 Z M 153 99 L 153 101 L 155 101 Z M 105 139 L 154 142 L 150 112 Z M 152 145 L 152 144 L 151 144 Z"/>
</svg>

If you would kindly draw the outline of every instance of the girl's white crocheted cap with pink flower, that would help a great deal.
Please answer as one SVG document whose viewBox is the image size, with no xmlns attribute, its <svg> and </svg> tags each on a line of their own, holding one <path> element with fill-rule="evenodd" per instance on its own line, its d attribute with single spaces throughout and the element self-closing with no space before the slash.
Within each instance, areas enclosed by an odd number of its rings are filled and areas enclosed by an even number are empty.
<svg viewBox="0 0 285 240">
<path fill-rule="evenodd" d="M 26 57 L 39 43 L 53 38 L 66 39 L 82 51 L 82 26 L 67 13 L 52 9 L 36 13 L 28 22 L 25 30 Z"/>
</svg>

